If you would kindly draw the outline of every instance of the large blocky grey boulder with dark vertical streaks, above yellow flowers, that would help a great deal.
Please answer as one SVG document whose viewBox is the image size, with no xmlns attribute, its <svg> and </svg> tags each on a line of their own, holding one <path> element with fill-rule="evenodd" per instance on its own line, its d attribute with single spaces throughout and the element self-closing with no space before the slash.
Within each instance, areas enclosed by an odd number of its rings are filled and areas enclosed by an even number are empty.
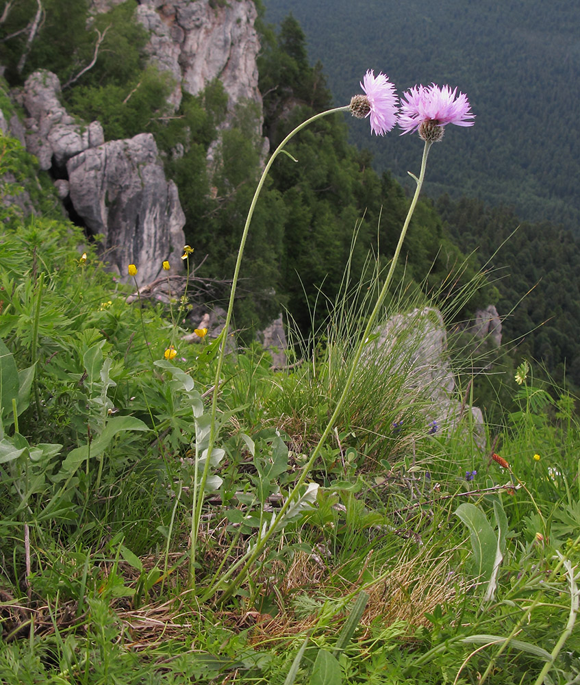
<svg viewBox="0 0 580 685">
<path fill-rule="evenodd" d="M 181 268 L 184 212 L 167 181 L 151 134 L 112 140 L 66 164 L 71 201 L 93 234 L 103 234 L 105 258 L 123 277 L 137 264 L 140 282 L 169 260 Z"/>
</svg>

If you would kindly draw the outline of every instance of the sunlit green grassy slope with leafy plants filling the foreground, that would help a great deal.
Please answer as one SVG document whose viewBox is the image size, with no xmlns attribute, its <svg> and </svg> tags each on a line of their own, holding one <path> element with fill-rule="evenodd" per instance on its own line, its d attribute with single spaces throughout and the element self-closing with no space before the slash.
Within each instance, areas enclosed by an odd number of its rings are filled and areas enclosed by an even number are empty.
<svg viewBox="0 0 580 685">
<path fill-rule="evenodd" d="M 1 682 L 578 682 L 575 398 L 532 366 L 486 445 L 469 411 L 432 432 L 413 360 L 436 314 L 401 290 L 379 321 L 401 314 L 414 336 L 370 335 L 299 497 L 216 592 L 301 477 L 383 274 L 346 271 L 288 369 L 257 345 L 225 356 L 200 495 L 218 343 L 186 345 L 171 312 L 127 301 L 73 226 L 4 218 Z"/>
</svg>

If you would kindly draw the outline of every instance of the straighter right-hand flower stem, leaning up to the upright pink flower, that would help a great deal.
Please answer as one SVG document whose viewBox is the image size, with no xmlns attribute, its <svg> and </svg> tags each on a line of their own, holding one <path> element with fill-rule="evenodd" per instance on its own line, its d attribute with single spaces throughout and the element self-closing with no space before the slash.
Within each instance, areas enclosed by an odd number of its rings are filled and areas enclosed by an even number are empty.
<svg viewBox="0 0 580 685">
<path fill-rule="evenodd" d="M 342 109 L 342 108 L 341 108 Z M 312 121 L 310 119 L 309 121 Z M 308 123 L 305 122 L 304 125 Z M 302 126 L 302 127 L 303 127 Z M 289 138 L 288 138 L 289 139 Z M 286 141 L 286 139 L 285 139 Z M 285 142 L 283 141 L 283 142 Z M 281 144 L 283 145 L 283 143 Z M 320 450 L 322 449 L 325 440 L 327 439 L 329 433 L 333 429 L 334 424 L 336 423 L 336 420 L 338 419 L 338 416 L 340 415 L 340 412 L 342 411 L 342 408 L 344 406 L 344 402 L 346 401 L 346 397 L 348 397 L 349 392 L 351 390 L 352 384 L 353 384 L 353 378 L 355 376 L 355 372 L 358 366 L 358 363 L 360 362 L 360 358 L 362 356 L 364 347 L 368 343 L 368 338 L 373 331 L 373 327 L 375 326 L 375 323 L 377 321 L 377 318 L 379 316 L 379 312 L 381 311 L 381 308 L 383 307 L 383 303 L 386 299 L 388 289 L 390 287 L 390 284 L 392 282 L 392 278 L 394 275 L 394 269 L 396 267 L 396 263 L 399 260 L 399 255 L 401 253 L 401 248 L 403 247 L 403 242 L 405 241 L 405 235 L 407 234 L 407 229 L 409 228 L 409 223 L 411 223 L 411 218 L 413 216 L 414 210 L 417 205 L 417 201 L 419 199 L 419 195 L 421 192 L 421 188 L 423 187 L 423 180 L 425 179 L 425 169 L 427 167 L 427 156 L 429 155 L 429 149 L 431 148 L 432 143 L 430 141 L 425 142 L 425 148 L 423 149 L 423 160 L 421 162 L 421 170 L 419 177 L 417 178 L 416 176 L 412 175 L 412 177 L 415 179 L 416 182 L 416 189 L 415 189 L 415 194 L 413 196 L 413 199 L 411 201 L 411 205 L 409 206 L 409 211 L 407 212 L 407 217 L 405 219 L 405 223 L 403 223 L 403 228 L 401 229 L 401 235 L 399 236 L 399 242 L 396 245 L 396 249 L 394 251 L 394 255 L 390 264 L 390 269 L 388 271 L 387 277 L 385 279 L 385 282 L 383 283 L 383 287 L 381 288 L 381 292 L 379 293 L 379 297 L 377 298 L 377 302 L 375 303 L 375 307 L 373 308 L 373 311 L 370 313 L 370 316 L 368 317 L 368 321 L 366 323 L 366 327 L 364 329 L 364 332 L 362 336 L 360 337 L 359 343 L 357 345 L 355 354 L 353 356 L 353 359 L 351 360 L 350 363 L 350 368 L 349 368 L 349 373 L 346 376 L 346 381 L 344 382 L 344 388 L 342 388 L 342 393 L 340 394 L 340 397 L 338 399 L 338 402 L 336 403 L 336 407 L 334 408 L 334 411 L 332 412 L 332 415 L 323 431 L 323 434 L 320 436 L 320 439 L 318 440 L 318 443 L 316 447 L 314 447 L 314 450 L 312 451 L 312 455 L 310 456 L 310 459 L 306 462 L 305 466 L 303 467 L 302 473 L 297 481 L 297 483 L 294 485 L 294 488 L 290 491 L 288 494 L 288 497 L 286 498 L 286 501 L 284 502 L 282 508 L 278 512 L 277 516 L 275 516 L 275 519 L 273 520 L 272 524 L 270 525 L 269 529 L 265 532 L 263 537 L 260 537 L 257 540 L 257 543 L 249 551 L 246 555 L 244 555 L 236 564 L 232 564 L 230 568 L 227 570 L 226 573 L 224 573 L 216 582 L 212 585 L 210 585 L 209 588 L 205 591 L 205 594 L 203 595 L 203 599 L 209 599 L 210 597 L 213 597 L 221 588 L 225 587 L 225 592 L 223 594 L 223 599 L 227 599 L 231 593 L 233 593 L 243 582 L 244 578 L 246 577 L 247 573 L 251 569 L 252 564 L 257 560 L 257 558 L 260 557 L 262 554 L 262 551 L 264 550 L 264 547 L 266 543 L 268 543 L 268 540 L 277 532 L 279 525 L 281 521 L 283 520 L 284 516 L 286 515 L 286 512 L 288 511 L 288 508 L 290 507 L 290 504 L 294 499 L 296 499 L 299 495 L 299 490 L 305 483 L 308 474 L 310 473 L 310 469 L 312 469 L 312 466 L 314 462 L 316 461 L 316 458 L 320 455 Z M 279 149 L 277 149 L 276 152 L 278 152 Z M 266 172 L 265 172 L 266 173 Z M 224 341 L 223 341 L 224 344 Z M 209 459 L 208 459 L 209 461 Z M 239 571 L 238 571 L 239 569 Z M 234 573 L 238 573 L 234 580 L 228 583 L 229 579 L 234 576 Z"/>
</svg>

